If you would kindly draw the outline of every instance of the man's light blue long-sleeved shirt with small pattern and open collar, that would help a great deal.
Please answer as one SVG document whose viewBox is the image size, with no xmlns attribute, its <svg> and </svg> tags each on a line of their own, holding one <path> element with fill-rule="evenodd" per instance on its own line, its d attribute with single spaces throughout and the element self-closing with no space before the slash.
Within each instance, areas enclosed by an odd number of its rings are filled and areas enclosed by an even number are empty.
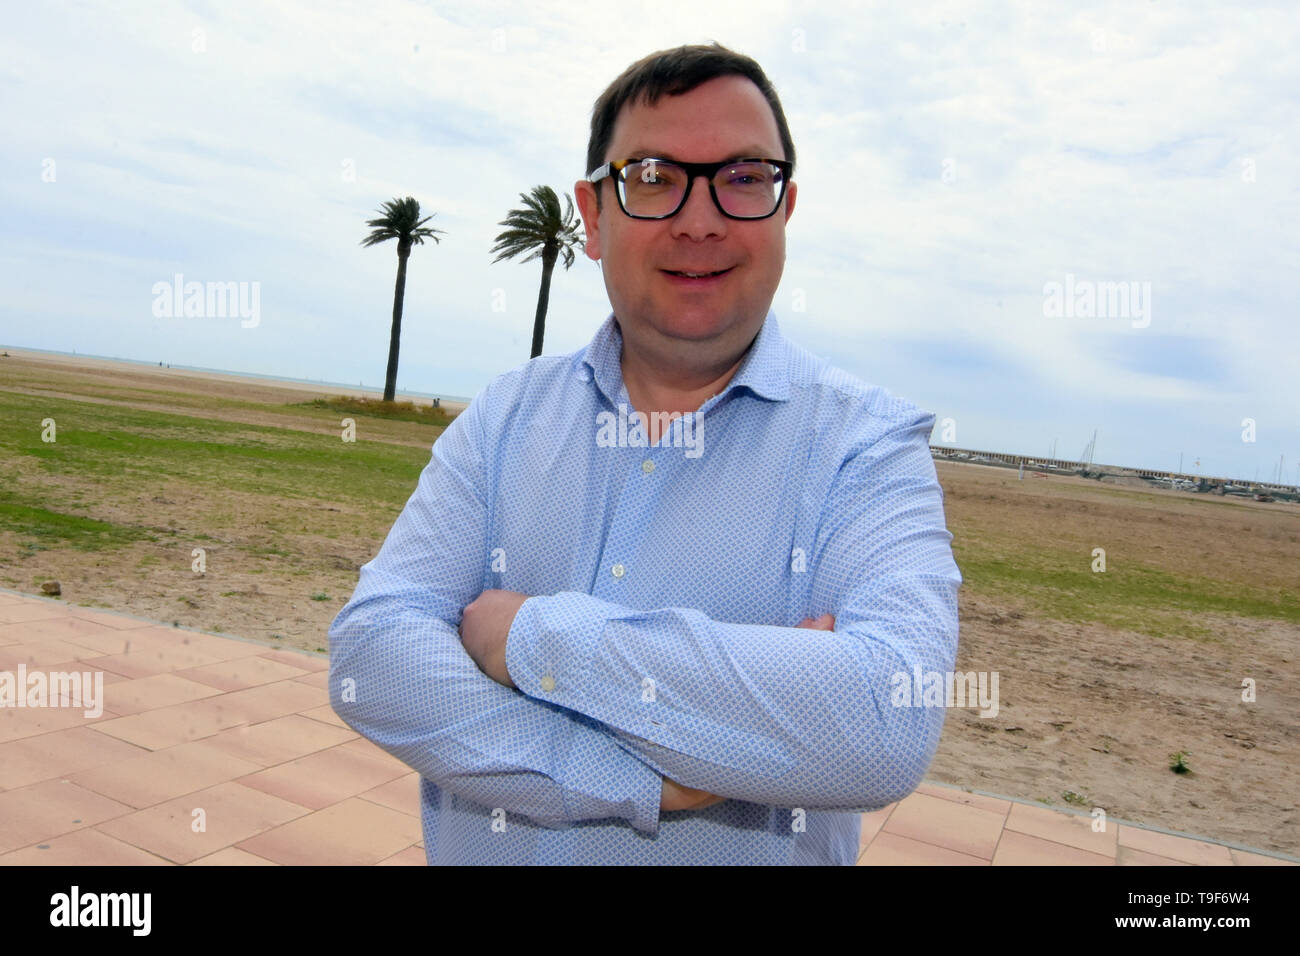
<svg viewBox="0 0 1300 956">
<path fill-rule="evenodd" d="M 610 316 L 439 436 L 330 628 L 330 702 L 420 771 L 430 864 L 852 864 L 942 730 L 896 675 L 957 654 L 935 418 L 770 313 L 649 447 L 620 352 Z M 490 588 L 536 594 L 519 689 L 458 636 Z M 662 777 L 727 800 L 660 814 Z"/>
</svg>

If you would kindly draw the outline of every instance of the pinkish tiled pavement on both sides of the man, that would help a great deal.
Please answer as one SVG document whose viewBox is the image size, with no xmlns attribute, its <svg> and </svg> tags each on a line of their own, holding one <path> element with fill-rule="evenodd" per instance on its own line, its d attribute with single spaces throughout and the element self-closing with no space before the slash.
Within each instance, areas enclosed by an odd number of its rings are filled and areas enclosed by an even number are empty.
<svg viewBox="0 0 1300 956">
<path fill-rule="evenodd" d="M 104 709 L 0 708 L 0 864 L 421 866 L 417 775 L 330 709 L 321 654 L 0 591 L 0 672 L 104 675 Z M 859 865 L 1295 865 L 923 784 Z"/>
</svg>

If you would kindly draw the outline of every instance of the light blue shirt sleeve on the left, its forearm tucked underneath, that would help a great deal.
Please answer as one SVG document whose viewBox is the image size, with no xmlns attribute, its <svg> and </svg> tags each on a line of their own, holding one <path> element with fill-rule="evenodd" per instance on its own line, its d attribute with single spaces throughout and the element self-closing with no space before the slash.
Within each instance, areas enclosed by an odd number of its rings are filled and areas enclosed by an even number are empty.
<svg viewBox="0 0 1300 956">
<path fill-rule="evenodd" d="M 595 721 L 484 675 L 458 633 L 489 559 L 484 402 L 433 447 L 330 628 L 330 704 L 438 787 L 546 827 L 658 827 L 660 777 Z"/>
</svg>

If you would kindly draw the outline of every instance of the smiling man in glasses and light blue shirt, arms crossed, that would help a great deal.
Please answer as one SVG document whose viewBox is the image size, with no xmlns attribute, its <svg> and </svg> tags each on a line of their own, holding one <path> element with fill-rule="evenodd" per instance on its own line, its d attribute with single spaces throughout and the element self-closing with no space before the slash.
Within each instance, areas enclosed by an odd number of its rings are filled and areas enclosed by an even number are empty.
<svg viewBox="0 0 1300 956">
<path fill-rule="evenodd" d="M 612 315 L 447 428 L 330 632 L 430 864 L 852 864 L 920 782 L 942 709 L 893 678 L 952 670 L 961 581 L 933 416 L 781 336 L 793 161 L 716 44 L 597 101 Z"/>
</svg>

